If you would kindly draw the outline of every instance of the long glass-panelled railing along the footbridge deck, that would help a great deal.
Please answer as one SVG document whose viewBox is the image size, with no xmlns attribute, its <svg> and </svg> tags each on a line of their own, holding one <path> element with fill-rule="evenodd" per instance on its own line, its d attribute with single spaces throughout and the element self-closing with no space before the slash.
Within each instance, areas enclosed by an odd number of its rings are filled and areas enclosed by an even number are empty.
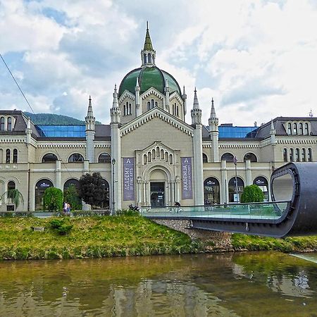
<svg viewBox="0 0 317 317">
<path fill-rule="evenodd" d="M 204 206 L 144 206 L 140 207 L 140 213 L 145 217 L 159 216 L 164 218 L 278 219 L 288 211 L 289 206 L 290 201 Z"/>
</svg>

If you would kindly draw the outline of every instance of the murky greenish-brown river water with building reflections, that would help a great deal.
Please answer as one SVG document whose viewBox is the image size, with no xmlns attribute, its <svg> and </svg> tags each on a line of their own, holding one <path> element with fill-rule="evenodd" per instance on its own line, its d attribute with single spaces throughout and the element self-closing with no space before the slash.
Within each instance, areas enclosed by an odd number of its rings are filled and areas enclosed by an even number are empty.
<svg viewBox="0 0 317 317">
<path fill-rule="evenodd" d="M 0 316 L 317 316 L 317 254 L 0 262 Z"/>
</svg>

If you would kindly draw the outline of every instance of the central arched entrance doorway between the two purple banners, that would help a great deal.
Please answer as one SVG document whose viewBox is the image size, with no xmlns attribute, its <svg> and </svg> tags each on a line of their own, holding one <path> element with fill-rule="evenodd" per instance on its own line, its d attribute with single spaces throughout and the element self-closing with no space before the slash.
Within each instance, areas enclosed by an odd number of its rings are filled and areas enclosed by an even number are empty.
<svg viewBox="0 0 317 317">
<path fill-rule="evenodd" d="M 150 203 L 152 207 L 166 205 L 166 173 L 156 169 L 150 175 Z"/>
</svg>

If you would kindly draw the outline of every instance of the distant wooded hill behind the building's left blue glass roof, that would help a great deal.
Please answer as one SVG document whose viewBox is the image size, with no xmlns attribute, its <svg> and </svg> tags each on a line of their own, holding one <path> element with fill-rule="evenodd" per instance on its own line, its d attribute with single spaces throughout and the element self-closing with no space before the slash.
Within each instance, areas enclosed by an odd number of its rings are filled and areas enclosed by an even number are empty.
<svg viewBox="0 0 317 317">
<path fill-rule="evenodd" d="M 85 121 L 54 113 L 30 113 L 24 112 L 35 125 L 85 125 Z M 96 121 L 97 125 L 101 123 Z"/>
</svg>

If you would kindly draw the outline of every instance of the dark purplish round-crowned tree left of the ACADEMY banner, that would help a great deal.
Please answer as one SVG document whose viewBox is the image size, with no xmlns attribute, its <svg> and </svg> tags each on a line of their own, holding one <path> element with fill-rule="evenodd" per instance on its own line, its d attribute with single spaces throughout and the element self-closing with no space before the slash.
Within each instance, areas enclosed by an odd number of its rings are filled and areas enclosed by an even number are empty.
<svg viewBox="0 0 317 317">
<path fill-rule="evenodd" d="M 104 179 L 101 178 L 100 173 L 95 172 L 82 175 L 79 180 L 78 188 L 79 197 L 89 204 L 94 209 L 97 206 L 102 206 L 106 199 L 107 190 L 104 186 Z"/>
</svg>

